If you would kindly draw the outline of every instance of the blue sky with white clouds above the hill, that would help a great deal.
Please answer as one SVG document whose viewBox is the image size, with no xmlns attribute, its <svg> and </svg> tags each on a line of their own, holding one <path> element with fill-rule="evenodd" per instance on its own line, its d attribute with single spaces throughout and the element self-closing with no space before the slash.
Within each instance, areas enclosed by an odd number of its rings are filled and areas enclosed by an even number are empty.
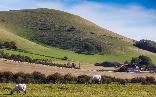
<svg viewBox="0 0 156 97">
<path fill-rule="evenodd" d="M 0 0 L 0 11 L 32 8 L 63 10 L 129 38 L 156 41 L 156 0 Z"/>
</svg>

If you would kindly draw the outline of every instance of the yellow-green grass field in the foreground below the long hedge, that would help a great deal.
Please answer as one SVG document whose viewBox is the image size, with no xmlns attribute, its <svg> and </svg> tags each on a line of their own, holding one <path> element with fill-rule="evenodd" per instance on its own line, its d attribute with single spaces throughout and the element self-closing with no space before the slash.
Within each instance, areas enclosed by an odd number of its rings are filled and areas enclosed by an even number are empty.
<svg viewBox="0 0 156 97">
<path fill-rule="evenodd" d="M 0 96 L 9 97 L 12 83 L 0 84 Z M 32 97 L 155 97 L 156 85 L 140 84 L 28 84 L 27 94 Z M 22 97 L 23 94 L 13 94 Z M 12 97 L 12 96 L 10 96 Z"/>
</svg>

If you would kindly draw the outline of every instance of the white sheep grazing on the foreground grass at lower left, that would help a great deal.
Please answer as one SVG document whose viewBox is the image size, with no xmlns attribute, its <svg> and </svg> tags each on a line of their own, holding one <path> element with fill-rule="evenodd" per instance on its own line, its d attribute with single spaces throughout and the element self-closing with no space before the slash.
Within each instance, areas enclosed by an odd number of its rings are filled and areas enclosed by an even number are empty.
<svg viewBox="0 0 156 97">
<path fill-rule="evenodd" d="M 24 91 L 24 93 L 26 94 L 26 84 L 17 84 L 12 90 L 11 90 L 11 94 L 13 94 L 14 92 L 20 93 L 20 91 Z"/>
</svg>

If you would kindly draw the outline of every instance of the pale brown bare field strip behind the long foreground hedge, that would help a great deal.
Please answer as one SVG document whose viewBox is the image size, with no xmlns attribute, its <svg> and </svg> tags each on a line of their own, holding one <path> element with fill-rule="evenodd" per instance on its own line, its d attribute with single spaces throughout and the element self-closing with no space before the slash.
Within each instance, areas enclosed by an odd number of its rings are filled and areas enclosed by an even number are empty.
<svg viewBox="0 0 156 97">
<path fill-rule="evenodd" d="M 29 64 L 29 63 L 21 63 L 21 62 L 14 62 L 14 61 L 0 59 L 0 71 L 11 71 L 14 73 L 16 72 L 32 73 L 34 71 L 38 71 L 46 75 L 59 72 L 61 74 L 71 73 L 72 75 L 75 76 L 82 75 L 82 74 L 86 74 L 86 75 L 101 74 L 101 75 L 107 75 L 107 76 L 112 76 L 117 78 L 134 78 L 134 77 L 146 77 L 146 76 L 153 76 L 156 78 L 156 74 L 154 73 L 120 73 L 120 72 L 96 71 L 101 69 L 107 70 L 112 68 L 84 66 L 82 67 L 82 69 L 69 69 L 69 68 L 59 68 L 59 67 L 46 66 L 41 64 Z"/>
</svg>

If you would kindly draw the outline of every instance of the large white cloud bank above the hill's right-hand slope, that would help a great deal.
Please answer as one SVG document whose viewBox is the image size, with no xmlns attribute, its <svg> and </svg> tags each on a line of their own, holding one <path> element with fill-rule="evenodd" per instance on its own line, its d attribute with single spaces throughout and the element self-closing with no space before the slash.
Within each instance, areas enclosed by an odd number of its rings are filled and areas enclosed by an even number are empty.
<svg viewBox="0 0 156 97">
<path fill-rule="evenodd" d="M 156 41 L 156 11 L 141 6 L 84 3 L 68 10 L 92 22 L 133 39 Z"/>
</svg>

